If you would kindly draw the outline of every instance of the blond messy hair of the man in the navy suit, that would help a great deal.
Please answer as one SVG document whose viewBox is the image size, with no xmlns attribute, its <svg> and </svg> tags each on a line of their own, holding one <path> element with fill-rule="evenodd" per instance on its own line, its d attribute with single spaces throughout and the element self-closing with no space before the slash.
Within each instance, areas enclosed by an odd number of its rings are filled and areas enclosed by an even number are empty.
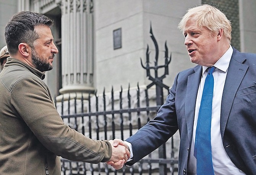
<svg viewBox="0 0 256 175">
<path fill-rule="evenodd" d="M 231 41 L 231 22 L 224 13 L 214 6 L 204 4 L 190 8 L 178 24 L 178 28 L 182 32 L 185 30 L 186 22 L 191 18 L 196 20 L 197 26 L 206 27 L 212 34 L 218 34 L 219 29 L 223 29 L 224 36 Z"/>
</svg>

